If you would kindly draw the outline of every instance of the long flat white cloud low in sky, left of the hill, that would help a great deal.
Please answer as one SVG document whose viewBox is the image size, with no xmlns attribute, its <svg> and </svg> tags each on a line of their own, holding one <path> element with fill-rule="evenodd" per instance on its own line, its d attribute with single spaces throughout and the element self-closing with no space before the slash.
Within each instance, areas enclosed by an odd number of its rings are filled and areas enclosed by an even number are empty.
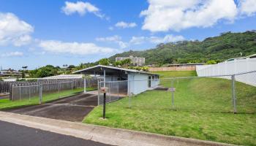
<svg viewBox="0 0 256 146">
<path fill-rule="evenodd" d="M 90 55 L 97 53 L 114 53 L 116 49 L 110 47 L 99 47 L 94 43 L 61 42 L 56 40 L 45 40 L 39 42 L 39 47 L 50 53 L 71 53 L 74 55 Z"/>
</svg>

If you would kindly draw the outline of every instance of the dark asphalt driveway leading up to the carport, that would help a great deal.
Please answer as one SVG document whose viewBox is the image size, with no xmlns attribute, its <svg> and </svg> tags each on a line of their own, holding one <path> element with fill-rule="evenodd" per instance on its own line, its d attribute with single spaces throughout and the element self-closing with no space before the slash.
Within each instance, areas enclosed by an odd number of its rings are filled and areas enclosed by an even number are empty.
<svg viewBox="0 0 256 146">
<path fill-rule="evenodd" d="M 76 96 L 48 102 L 47 104 L 20 107 L 6 110 L 6 112 L 81 122 L 83 118 L 97 106 L 97 102 L 96 95 L 81 93 Z"/>
</svg>

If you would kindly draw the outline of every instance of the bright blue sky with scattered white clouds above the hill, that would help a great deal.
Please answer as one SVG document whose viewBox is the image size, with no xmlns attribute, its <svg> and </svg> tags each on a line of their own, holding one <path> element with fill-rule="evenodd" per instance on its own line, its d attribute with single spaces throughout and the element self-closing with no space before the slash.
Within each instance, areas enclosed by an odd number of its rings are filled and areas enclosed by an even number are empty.
<svg viewBox="0 0 256 146">
<path fill-rule="evenodd" d="M 163 42 L 256 29 L 256 0 L 0 0 L 0 66 L 93 62 Z"/>
</svg>

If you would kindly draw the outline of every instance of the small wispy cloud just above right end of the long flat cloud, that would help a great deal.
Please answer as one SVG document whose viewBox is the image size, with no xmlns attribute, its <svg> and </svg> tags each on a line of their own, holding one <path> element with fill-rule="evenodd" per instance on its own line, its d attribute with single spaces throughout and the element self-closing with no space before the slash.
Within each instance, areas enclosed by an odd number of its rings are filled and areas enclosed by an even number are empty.
<svg viewBox="0 0 256 146">
<path fill-rule="evenodd" d="M 112 37 L 98 37 L 98 38 L 96 38 L 96 40 L 99 42 L 114 42 L 114 43 L 118 44 L 119 47 L 121 47 L 121 49 L 124 49 L 127 47 L 127 43 L 122 42 L 121 37 L 118 35 L 115 35 Z"/>
</svg>

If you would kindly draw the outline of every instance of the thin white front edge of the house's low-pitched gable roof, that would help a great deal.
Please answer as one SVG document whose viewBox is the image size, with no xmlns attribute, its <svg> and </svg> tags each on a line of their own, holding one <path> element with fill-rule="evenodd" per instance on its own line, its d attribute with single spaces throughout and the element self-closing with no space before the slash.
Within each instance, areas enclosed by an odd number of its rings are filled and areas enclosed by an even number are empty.
<svg viewBox="0 0 256 146">
<path fill-rule="evenodd" d="M 113 69 L 113 70 L 120 70 L 120 71 L 125 71 L 125 72 L 134 72 L 134 73 L 140 73 L 140 74 L 153 74 L 151 72 L 143 72 L 143 71 L 138 71 L 135 69 L 124 69 L 124 68 L 120 68 L 120 67 L 114 67 L 114 66 L 103 66 L 103 65 L 97 65 L 97 66 L 91 66 L 89 68 L 86 69 L 81 69 L 75 72 L 72 72 L 73 74 L 78 74 L 81 72 L 86 72 L 86 71 L 90 71 L 92 69 L 97 69 L 97 68 L 105 68 L 105 69 Z M 153 75 L 159 75 L 159 74 L 153 74 Z"/>
</svg>

